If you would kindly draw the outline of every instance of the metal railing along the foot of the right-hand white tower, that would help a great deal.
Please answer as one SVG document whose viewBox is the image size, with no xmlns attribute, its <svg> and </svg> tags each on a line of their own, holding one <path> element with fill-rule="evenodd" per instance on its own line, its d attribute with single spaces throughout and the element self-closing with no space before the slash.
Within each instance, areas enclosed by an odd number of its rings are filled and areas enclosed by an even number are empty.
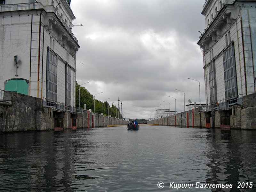
<svg viewBox="0 0 256 192">
<path fill-rule="evenodd" d="M 234 105 L 241 105 L 243 104 L 243 94 L 236 95 L 228 100 L 218 100 L 216 102 L 206 104 L 202 106 L 200 111 L 216 111 L 216 110 L 227 110 Z"/>
</svg>

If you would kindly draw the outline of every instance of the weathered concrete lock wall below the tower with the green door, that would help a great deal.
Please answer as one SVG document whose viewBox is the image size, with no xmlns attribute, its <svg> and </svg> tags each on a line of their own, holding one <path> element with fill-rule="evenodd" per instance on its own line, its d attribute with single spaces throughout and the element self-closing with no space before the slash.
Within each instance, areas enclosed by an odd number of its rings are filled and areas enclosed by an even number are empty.
<svg viewBox="0 0 256 192">
<path fill-rule="evenodd" d="M 59 112 L 43 107 L 43 100 L 5 91 L 0 102 L 0 132 L 54 130 L 55 118 L 62 119 L 63 129 L 71 129 L 72 119 L 77 128 L 102 127 L 109 124 L 126 125 L 128 121 L 82 110 L 82 114 Z"/>
</svg>

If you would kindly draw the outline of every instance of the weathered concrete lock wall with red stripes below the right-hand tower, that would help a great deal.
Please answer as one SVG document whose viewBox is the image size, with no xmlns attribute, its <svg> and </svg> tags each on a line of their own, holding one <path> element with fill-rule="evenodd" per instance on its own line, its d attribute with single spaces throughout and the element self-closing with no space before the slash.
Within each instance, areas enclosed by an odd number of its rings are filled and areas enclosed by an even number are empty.
<svg viewBox="0 0 256 192">
<path fill-rule="evenodd" d="M 196 108 L 154 119 L 148 121 L 148 124 L 206 127 L 206 118 L 210 119 L 210 128 L 220 128 L 224 124 L 231 129 L 256 129 L 256 93 L 244 96 L 242 105 L 232 106 L 228 110 L 200 112 Z"/>
</svg>

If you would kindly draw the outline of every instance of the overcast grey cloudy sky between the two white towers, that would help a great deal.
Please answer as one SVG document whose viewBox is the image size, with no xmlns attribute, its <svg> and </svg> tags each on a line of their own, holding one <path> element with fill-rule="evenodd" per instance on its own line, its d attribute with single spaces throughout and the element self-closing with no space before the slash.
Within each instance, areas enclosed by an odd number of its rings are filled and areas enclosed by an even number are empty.
<svg viewBox="0 0 256 192">
<path fill-rule="evenodd" d="M 152 117 L 156 109 L 184 110 L 190 99 L 205 102 L 203 55 L 205 0 L 72 0 L 73 33 L 80 45 L 76 81 L 123 116 Z M 83 63 L 83 64 L 82 64 Z M 167 102 L 163 102 L 167 101 Z M 161 105 L 160 105 L 161 104 Z M 159 107 L 158 107 L 159 106 Z M 121 105 L 120 105 L 121 110 Z"/>
</svg>

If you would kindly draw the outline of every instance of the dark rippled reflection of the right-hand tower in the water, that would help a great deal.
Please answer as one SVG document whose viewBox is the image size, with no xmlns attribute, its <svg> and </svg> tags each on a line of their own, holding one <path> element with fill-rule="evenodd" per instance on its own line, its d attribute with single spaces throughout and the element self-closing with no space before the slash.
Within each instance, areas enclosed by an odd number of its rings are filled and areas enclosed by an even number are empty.
<svg viewBox="0 0 256 192">
<path fill-rule="evenodd" d="M 232 189 L 212 191 L 254 191 L 255 188 L 238 189 L 238 182 L 256 183 L 255 132 L 254 131 L 209 131 L 206 173 L 207 183 L 233 184 Z"/>
</svg>

